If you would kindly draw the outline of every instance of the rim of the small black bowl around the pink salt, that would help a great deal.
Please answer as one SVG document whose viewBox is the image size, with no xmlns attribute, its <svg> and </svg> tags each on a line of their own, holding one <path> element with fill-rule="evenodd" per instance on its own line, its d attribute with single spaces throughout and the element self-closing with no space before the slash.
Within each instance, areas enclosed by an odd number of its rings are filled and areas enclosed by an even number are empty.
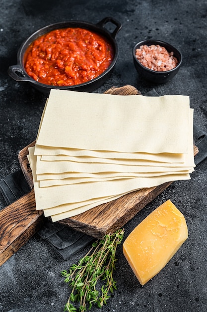
<svg viewBox="0 0 207 312">
<path fill-rule="evenodd" d="M 142 44 L 147 44 L 147 45 L 151 45 L 151 44 L 159 44 L 161 46 L 164 46 L 168 51 L 171 50 L 171 51 L 174 51 L 176 52 L 176 54 L 179 56 L 179 59 L 178 59 L 178 65 L 170 70 L 166 70 L 166 71 L 154 71 L 152 69 L 149 69 L 145 66 L 143 66 L 137 59 L 136 57 L 136 49 L 138 48 L 138 46 L 142 45 Z M 168 73 L 171 73 L 173 71 L 175 71 L 176 69 L 178 69 L 180 66 L 181 66 L 181 63 L 182 63 L 182 60 L 183 60 L 183 57 L 182 57 L 182 54 L 171 44 L 165 42 L 165 41 L 161 41 L 161 40 L 156 40 L 156 39 L 146 39 L 146 40 L 142 40 L 142 41 L 139 41 L 138 43 L 136 43 L 136 45 L 134 46 L 133 48 L 133 57 L 135 59 L 135 61 L 138 63 L 138 65 L 145 71 L 149 72 L 149 73 L 153 73 L 153 74 L 156 74 L 156 75 L 163 75 L 163 73 L 165 74 L 168 74 Z"/>
</svg>

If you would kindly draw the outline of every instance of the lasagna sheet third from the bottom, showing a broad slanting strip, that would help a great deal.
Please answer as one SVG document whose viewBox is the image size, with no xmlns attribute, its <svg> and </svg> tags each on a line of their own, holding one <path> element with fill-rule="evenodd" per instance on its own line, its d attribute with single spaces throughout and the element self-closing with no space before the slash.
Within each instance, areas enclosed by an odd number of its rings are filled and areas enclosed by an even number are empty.
<svg viewBox="0 0 207 312">
<path fill-rule="evenodd" d="M 32 172 L 36 171 L 36 159 L 32 148 L 29 148 Z M 39 187 L 33 175 L 34 191 L 37 210 L 61 206 L 68 203 L 82 203 L 84 201 L 110 196 L 119 196 L 134 190 L 157 186 L 168 181 L 190 179 L 189 174 L 169 174 L 159 177 L 120 179 L 107 182 L 79 183 L 72 185 L 58 185 L 46 188 Z M 61 207 L 60 207 L 61 209 Z M 61 212 L 61 211 L 60 211 Z"/>
</svg>

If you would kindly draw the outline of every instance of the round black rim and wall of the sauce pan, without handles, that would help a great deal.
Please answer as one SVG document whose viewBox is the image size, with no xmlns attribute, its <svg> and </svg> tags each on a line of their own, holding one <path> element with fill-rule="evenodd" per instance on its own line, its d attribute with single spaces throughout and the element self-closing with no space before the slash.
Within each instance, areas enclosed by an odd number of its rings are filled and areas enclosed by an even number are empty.
<svg viewBox="0 0 207 312">
<path fill-rule="evenodd" d="M 114 18 L 112 18 L 114 20 Z M 101 22 L 101 21 L 100 21 Z M 100 23 L 99 22 L 99 23 Z M 117 58 L 118 58 L 118 44 L 117 41 L 115 40 L 116 34 L 115 36 L 112 35 L 112 33 L 110 33 L 106 28 L 99 26 L 98 24 L 93 24 L 93 23 L 89 23 L 87 21 L 82 21 L 82 20 L 69 20 L 69 21 L 62 21 L 62 22 L 57 22 L 57 23 L 53 23 L 53 24 L 49 24 L 47 26 L 44 26 L 38 30 L 36 30 L 35 32 L 33 32 L 19 47 L 18 52 L 17 52 L 17 64 L 21 66 L 21 69 L 24 72 L 25 78 L 28 78 L 28 82 L 37 85 L 39 87 L 45 88 L 45 89 L 75 89 L 75 88 L 80 88 L 80 87 L 84 87 L 90 84 L 95 83 L 97 80 L 101 80 L 105 75 L 107 75 L 115 66 Z M 109 42 L 112 44 L 113 49 L 114 49 L 114 58 L 112 63 L 109 65 L 109 67 L 99 76 L 97 76 L 96 78 L 89 80 L 87 82 L 81 83 L 81 84 L 77 84 L 77 85 L 71 85 L 71 86 L 52 86 L 52 85 L 47 85 L 47 84 L 43 84 L 41 82 L 38 82 L 36 80 L 34 80 L 32 77 L 30 77 L 27 72 L 25 71 L 24 68 L 24 64 L 23 64 L 23 57 L 24 57 L 24 53 L 27 49 L 27 47 L 35 40 L 37 39 L 39 36 L 50 32 L 52 30 L 55 29 L 59 29 L 59 28 L 68 28 L 68 27 L 79 27 L 79 28 L 84 28 L 84 29 L 88 29 L 94 32 L 97 32 L 99 34 L 102 34 L 103 36 L 105 36 Z M 121 26 L 120 26 L 121 28 Z M 119 30 L 118 30 L 119 31 Z M 118 32 L 117 31 L 117 32 Z"/>
</svg>

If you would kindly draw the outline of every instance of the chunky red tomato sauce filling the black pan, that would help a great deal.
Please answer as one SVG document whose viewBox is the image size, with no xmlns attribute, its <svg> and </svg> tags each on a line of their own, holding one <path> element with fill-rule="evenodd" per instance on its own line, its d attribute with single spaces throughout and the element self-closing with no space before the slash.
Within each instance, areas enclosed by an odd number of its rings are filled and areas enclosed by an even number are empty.
<svg viewBox="0 0 207 312">
<path fill-rule="evenodd" d="M 92 80 L 112 63 L 113 47 L 99 35 L 83 28 L 48 32 L 27 48 L 24 67 L 34 80 L 53 86 L 72 86 Z"/>
</svg>

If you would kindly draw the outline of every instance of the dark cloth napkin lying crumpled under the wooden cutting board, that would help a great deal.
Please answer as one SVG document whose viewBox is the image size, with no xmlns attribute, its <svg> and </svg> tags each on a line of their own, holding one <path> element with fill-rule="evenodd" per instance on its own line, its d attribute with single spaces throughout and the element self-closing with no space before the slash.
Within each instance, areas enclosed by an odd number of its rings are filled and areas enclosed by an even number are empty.
<svg viewBox="0 0 207 312">
<path fill-rule="evenodd" d="M 145 95 L 159 96 L 154 89 Z M 195 163 L 198 165 L 207 157 L 207 133 L 202 131 L 197 125 L 194 125 L 194 142 L 199 148 L 199 153 L 195 156 Z M 5 207 L 11 204 L 29 191 L 29 185 L 21 170 L 7 175 L 0 181 L 1 206 Z M 75 231 L 66 225 L 57 222 L 53 223 L 48 219 L 45 219 L 45 224 L 38 234 L 42 239 L 46 239 L 64 260 L 68 260 L 71 255 L 94 241 L 94 238 L 91 236 Z"/>
</svg>

